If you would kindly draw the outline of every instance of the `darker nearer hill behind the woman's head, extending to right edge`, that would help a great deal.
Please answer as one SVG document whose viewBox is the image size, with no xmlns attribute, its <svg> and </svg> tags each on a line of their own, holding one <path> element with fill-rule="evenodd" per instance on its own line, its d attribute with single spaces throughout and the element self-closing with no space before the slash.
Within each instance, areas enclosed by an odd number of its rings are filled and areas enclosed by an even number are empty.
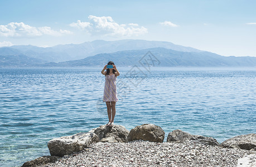
<svg viewBox="0 0 256 167">
<path fill-rule="evenodd" d="M 146 55 L 150 51 L 151 55 Z M 145 56 L 146 55 L 146 56 Z M 145 56 L 145 57 L 143 57 Z M 225 57 L 211 52 L 182 52 L 166 48 L 149 48 L 145 50 L 129 50 L 114 53 L 101 53 L 81 60 L 50 63 L 49 66 L 83 67 L 104 66 L 113 61 L 117 66 L 141 65 L 139 62 L 151 63 L 156 67 L 256 67 L 256 57 Z"/>
</svg>

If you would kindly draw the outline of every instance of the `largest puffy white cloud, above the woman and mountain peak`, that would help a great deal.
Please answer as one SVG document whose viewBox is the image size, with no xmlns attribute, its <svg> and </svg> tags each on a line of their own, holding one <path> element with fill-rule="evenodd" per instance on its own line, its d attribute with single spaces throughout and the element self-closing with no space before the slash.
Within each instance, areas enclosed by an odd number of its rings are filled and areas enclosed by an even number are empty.
<svg viewBox="0 0 256 167">
<path fill-rule="evenodd" d="M 85 30 L 91 35 L 137 36 L 148 32 L 147 28 L 139 27 L 139 25 L 135 23 L 129 23 L 128 25 L 118 24 L 109 16 L 89 16 L 88 18 L 89 22 L 81 22 L 78 20 L 76 23 L 71 23 L 69 25 L 71 27 L 79 28 L 80 30 Z"/>
</svg>

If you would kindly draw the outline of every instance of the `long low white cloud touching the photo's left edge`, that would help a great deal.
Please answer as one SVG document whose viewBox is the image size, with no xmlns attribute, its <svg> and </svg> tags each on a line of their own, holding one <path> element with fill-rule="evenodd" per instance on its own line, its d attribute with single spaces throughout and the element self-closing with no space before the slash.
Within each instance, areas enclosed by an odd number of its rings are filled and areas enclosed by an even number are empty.
<svg viewBox="0 0 256 167">
<path fill-rule="evenodd" d="M 0 25 L 0 36 L 4 37 L 23 37 L 23 36 L 61 36 L 63 34 L 71 34 L 67 30 L 54 31 L 51 27 L 32 27 L 23 22 L 11 22 L 7 25 Z"/>
</svg>

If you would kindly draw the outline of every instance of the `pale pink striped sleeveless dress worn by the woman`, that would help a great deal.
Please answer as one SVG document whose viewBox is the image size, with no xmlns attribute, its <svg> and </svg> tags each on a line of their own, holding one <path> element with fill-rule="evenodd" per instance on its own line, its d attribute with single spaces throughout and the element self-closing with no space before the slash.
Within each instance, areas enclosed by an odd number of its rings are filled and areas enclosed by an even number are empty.
<svg viewBox="0 0 256 167">
<path fill-rule="evenodd" d="M 118 101 L 116 81 L 117 77 L 114 74 L 105 76 L 103 101 Z"/>
</svg>

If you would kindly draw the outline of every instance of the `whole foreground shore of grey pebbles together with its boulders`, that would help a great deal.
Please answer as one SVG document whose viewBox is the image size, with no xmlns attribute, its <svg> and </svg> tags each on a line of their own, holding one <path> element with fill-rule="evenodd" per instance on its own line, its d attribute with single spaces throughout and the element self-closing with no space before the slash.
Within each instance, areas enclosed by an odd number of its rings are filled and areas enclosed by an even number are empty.
<svg viewBox="0 0 256 167">
<path fill-rule="evenodd" d="M 238 162 L 242 166 L 256 165 L 256 134 L 235 136 L 221 144 L 212 137 L 181 130 L 170 132 L 166 142 L 164 136 L 161 127 L 153 124 L 139 125 L 131 131 L 122 125 L 102 125 L 89 132 L 50 140 L 51 156 L 27 161 L 22 166 L 236 166 Z"/>
</svg>

